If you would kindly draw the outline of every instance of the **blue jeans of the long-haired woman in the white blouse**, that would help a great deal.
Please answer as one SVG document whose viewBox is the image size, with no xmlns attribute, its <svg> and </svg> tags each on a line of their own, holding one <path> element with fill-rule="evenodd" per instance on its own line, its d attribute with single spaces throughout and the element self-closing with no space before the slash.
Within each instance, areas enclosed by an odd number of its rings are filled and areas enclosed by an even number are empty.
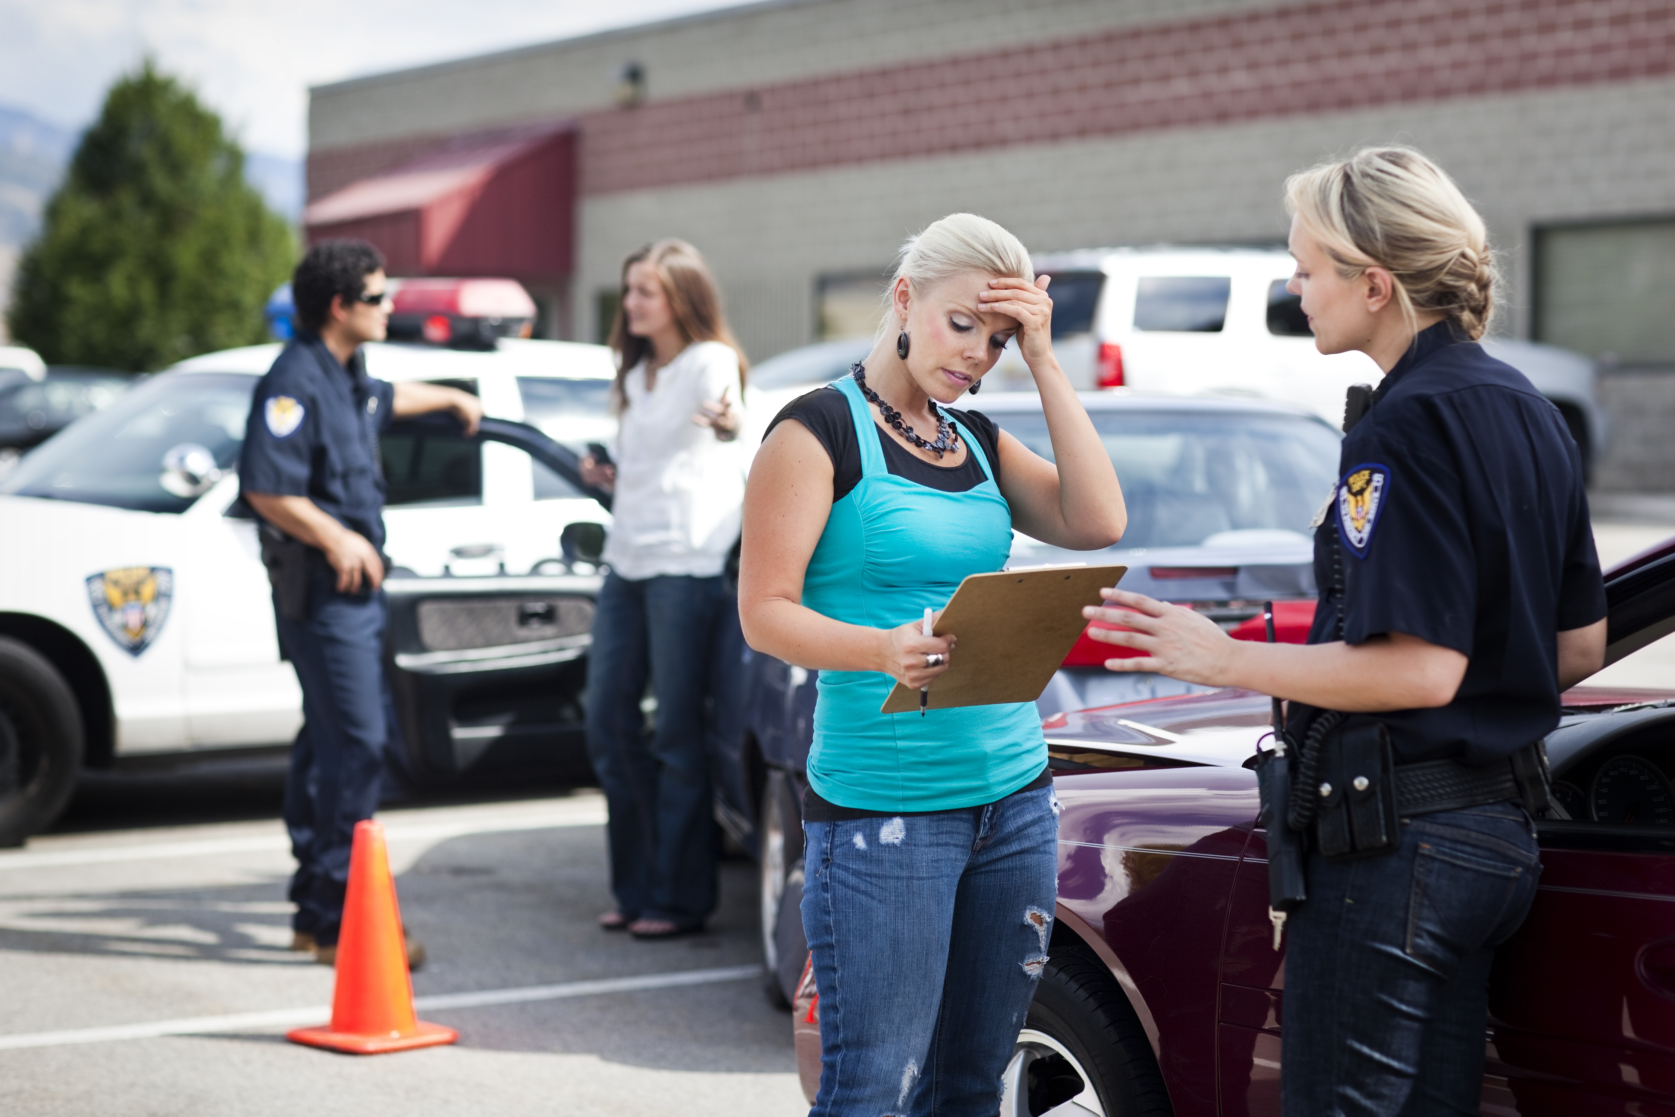
<svg viewBox="0 0 1675 1117">
<path fill-rule="evenodd" d="M 588 755 L 605 789 L 616 909 L 695 928 L 715 909 L 705 698 L 720 578 L 606 574 L 588 651 Z M 657 695 L 650 740 L 640 698 Z"/>
</svg>

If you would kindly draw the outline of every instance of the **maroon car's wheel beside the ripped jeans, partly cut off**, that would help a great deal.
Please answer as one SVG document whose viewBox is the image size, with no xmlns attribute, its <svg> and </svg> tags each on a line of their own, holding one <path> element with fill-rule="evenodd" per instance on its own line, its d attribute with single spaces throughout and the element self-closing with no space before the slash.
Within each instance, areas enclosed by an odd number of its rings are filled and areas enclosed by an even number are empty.
<svg viewBox="0 0 1675 1117">
<path fill-rule="evenodd" d="M 1122 988 L 1085 953 L 1060 955 L 1042 971 L 1007 1063 L 1002 1117 L 1171 1114 L 1157 1060 Z"/>
</svg>

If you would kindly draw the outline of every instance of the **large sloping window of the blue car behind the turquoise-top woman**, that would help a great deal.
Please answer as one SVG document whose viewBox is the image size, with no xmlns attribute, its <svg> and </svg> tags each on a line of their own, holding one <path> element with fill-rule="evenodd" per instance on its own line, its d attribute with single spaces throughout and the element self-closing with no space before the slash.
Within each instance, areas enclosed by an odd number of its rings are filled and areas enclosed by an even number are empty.
<svg viewBox="0 0 1675 1117">
<path fill-rule="evenodd" d="M 990 417 L 1052 461 L 1040 412 Z M 1253 544 L 1306 538 L 1337 477 L 1338 434 L 1306 415 L 1136 409 L 1092 419 L 1129 509 L 1121 549 L 1241 541 L 1224 533 L 1250 533 Z"/>
</svg>

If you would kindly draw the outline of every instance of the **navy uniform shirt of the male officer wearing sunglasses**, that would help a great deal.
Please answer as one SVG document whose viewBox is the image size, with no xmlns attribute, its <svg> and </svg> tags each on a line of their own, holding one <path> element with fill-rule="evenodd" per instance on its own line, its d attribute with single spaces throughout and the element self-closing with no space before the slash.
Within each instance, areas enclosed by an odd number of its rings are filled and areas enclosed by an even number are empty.
<svg viewBox="0 0 1675 1117">
<path fill-rule="evenodd" d="M 360 350 L 338 363 L 318 333 L 298 333 L 251 399 L 238 482 L 245 492 L 305 496 L 384 551 L 379 432 L 395 385 L 367 375 Z"/>
</svg>

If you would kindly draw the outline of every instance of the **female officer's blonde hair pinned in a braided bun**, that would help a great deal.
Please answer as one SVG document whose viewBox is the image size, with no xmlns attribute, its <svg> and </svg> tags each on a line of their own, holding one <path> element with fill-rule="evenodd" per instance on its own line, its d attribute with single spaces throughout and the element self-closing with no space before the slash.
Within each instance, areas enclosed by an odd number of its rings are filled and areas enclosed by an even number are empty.
<svg viewBox="0 0 1675 1117">
<path fill-rule="evenodd" d="M 1435 162 L 1412 147 L 1363 147 L 1285 183 L 1298 218 L 1353 280 L 1372 266 L 1397 280 L 1404 313 L 1440 311 L 1471 338 L 1494 313 L 1499 273 L 1482 218 Z"/>
</svg>

